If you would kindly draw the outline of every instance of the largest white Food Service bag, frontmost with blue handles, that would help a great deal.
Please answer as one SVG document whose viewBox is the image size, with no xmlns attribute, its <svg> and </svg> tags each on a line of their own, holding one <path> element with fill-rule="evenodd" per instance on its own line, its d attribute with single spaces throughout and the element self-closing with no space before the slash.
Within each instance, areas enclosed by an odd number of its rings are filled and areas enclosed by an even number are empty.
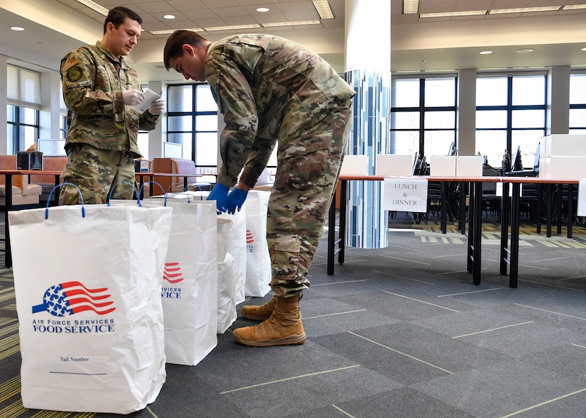
<svg viewBox="0 0 586 418">
<path fill-rule="evenodd" d="M 11 211 L 23 406 L 128 414 L 166 379 L 161 282 L 172 209 Z M 50 245 L 47 245 L 50 243 Z"/>
</svg>

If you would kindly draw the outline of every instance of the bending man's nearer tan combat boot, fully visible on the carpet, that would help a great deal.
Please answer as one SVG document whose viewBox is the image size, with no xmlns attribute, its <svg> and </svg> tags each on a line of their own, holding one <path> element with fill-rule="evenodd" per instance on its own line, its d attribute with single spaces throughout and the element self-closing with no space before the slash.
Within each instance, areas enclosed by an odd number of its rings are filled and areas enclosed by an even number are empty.
<svg viewBox="0 0 586 418">
<path fill-rule="evenodd" d="M 255 326 L 234 330 L 234 339 L 251 347 L 296 346 L 305 342 L 299 295 L 279 297 L 271 317 Z"/>
</svg>

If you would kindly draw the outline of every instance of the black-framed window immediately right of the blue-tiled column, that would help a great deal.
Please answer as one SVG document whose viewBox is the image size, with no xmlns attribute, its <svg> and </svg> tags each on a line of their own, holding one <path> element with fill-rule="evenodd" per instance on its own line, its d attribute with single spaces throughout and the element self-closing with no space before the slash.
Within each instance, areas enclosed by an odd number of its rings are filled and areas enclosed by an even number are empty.
<svg viewBox="0 0 586 418">
<path fill-rule="evenodd" d="M 456 139 L 456 77 L 396 77 L 391 94 L 391 153 L 447 155 Z"/>
</svg>

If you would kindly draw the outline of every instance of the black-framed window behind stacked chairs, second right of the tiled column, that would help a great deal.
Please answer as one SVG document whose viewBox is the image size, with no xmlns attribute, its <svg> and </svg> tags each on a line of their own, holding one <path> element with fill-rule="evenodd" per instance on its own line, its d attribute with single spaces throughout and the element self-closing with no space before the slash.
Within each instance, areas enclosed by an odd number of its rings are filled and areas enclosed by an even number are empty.
<svg viewBox="0 0 586 418">
<path fill-rule="evenodd" d="M 537 144 L 546 134 L 546 75 L 478 77 L 476 152 L 501 167 L 505 150 L 521 148 L 524 167 L 533 167 Z"/>
</svg>

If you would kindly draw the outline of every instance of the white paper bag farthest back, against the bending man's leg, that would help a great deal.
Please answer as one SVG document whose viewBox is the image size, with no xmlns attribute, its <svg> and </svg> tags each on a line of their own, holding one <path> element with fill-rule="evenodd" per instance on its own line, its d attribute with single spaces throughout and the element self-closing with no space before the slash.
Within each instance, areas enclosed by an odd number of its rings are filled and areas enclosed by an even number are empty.
<svg viewBox="0 0 586 418">
<path fill-rule="evenodd" d="M 264 297 L 271 287 L 271 258 L 266 243 L 266 211 L 271 192 L 250 190 L 246 207 L 246 295 Z"/>
</svg>

